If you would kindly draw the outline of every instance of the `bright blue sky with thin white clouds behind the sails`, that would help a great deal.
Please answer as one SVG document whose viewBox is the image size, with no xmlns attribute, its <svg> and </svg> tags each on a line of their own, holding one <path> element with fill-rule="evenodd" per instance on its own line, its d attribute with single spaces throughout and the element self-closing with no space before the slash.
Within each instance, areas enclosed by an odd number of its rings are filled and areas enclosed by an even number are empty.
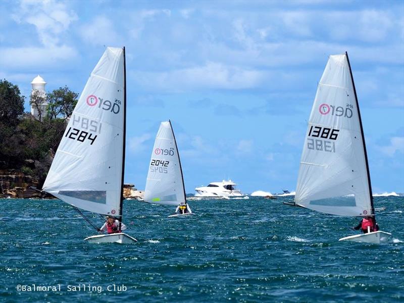
<svg viewBox="0 0 404 303">
<path fill-rule="evenodd" d="M 126 47 L 125 182 L 139 189 L 171 119 L 187 193 L 225 178 L 294 190 L 317 82 L 347 51 L 373 192 L 404 192 L 402 1 L 1 1 L 0 17 L 0 77 L 25 96 L 37 74 L 81 93 L 105 47 Z"/>
</svg>

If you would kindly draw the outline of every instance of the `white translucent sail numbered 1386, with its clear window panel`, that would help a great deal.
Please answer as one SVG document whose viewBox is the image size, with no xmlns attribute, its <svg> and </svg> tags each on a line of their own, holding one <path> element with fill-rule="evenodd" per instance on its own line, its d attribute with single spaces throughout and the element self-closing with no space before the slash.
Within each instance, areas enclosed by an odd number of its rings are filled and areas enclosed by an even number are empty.
<svg viewBox="0 0 404 303">
<path fill-rule="evenodd" d="M 310 115 L 294 201 L 330 214 L 370 215 L 369 184 L 347 56 L 330 56 Z"/>
</svg>

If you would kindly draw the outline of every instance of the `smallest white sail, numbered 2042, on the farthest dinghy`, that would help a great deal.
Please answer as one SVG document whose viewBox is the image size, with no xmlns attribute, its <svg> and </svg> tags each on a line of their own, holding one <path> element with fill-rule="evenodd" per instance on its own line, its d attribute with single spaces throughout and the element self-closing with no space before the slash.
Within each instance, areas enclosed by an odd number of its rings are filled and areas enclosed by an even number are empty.
<svg viewBox="0 0 404 303">
<path fill-rule="evenodd" d="M 170 121 L 161 122 L 151 152 L 144 201 L 163 205 L 186 202 L 182 171 Z"/>
</svg>

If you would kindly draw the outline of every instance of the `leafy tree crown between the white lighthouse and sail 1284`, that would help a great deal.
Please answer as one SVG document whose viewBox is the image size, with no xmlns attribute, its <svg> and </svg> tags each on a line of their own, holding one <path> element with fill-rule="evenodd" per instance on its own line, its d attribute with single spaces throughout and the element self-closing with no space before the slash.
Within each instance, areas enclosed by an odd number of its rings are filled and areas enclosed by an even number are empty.
<svg viewBox="0 0 404 303">
<path fill-rule="evenodd" d="M 48 93 L 46 100 L 48 102 L 47 115 L 50 119 L 63 117 L 66 120 L 73 113 L 74 107 L 77 104 L 79 94 L 69 90 L 67 86 L 54 90 Z"/>
</svg>

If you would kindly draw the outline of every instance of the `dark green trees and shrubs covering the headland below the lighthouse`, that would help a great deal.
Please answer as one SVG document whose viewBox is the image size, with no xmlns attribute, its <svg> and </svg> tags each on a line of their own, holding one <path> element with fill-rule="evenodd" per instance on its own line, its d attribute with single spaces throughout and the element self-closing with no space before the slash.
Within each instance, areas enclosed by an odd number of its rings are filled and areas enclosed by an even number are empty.
<svg viewBox="0 0 404 303">
<path fill-rule="evenodd" d="M 0 168 L 19 169 L 43 182 L 77 97 L 67 86 L 47 93 L 50 107 L 38 121 L 24 114 L 25 97 L 18 86 L 0 80 Z M 26 166 L 28 159 L 35 161 L 34 169 Z"/>
</svg>

